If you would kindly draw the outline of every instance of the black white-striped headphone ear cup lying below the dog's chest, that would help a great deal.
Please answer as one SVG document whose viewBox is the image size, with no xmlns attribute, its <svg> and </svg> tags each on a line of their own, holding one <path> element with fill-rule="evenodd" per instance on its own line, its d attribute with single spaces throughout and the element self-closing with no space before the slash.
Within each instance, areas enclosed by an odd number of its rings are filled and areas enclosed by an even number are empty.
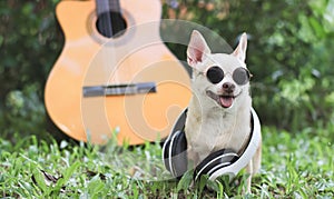
<svg viewBox="0 0 334 199">
<path fill-rule="evenodd" d="M 202 175 L 208 175 L 210 177 L 215 171 L 232 165 L 238 158 L 238 155 L 232 149 L 215 151 L 195 168 L 194 178 L 197 180 Z"/>
</svg>

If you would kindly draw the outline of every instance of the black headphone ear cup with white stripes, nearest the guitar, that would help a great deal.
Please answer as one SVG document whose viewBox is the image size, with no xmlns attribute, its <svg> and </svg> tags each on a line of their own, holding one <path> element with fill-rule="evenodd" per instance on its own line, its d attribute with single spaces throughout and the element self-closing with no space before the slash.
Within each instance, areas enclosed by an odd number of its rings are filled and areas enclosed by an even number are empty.
<svg viewBox="0 0 334 199">
<path fill-rule="evenodd" d="M 164 163 L 166 169 L 177 178 L 187 171 L 187 140 L 184 131 L 176 131 L 164 143 Z"/>
</svg>

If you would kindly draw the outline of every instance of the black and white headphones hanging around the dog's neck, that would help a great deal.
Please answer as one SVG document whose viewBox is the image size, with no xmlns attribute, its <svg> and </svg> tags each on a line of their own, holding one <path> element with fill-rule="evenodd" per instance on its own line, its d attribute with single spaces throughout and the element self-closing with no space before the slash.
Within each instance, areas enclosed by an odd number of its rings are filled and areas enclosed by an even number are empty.
<svg viewBox="0 0 334 199">
<path fill-rule="evenodd" d="M 187 139 L 185 136 L 185 122 L 187 108 L 177 119 L 171 133 L 163 146 L 163 159 L 165 168 L 173 177 L 180 179 L 188 170 L 187 161 Z M 255 110 L 250 109 L 250 135 L 244 149 L 234 151 L 232 149 L 220 149 L 207 156 L 194 171 L 195 181 L 202 175 L 208 175 L 209 180 L 228 175 L 233 179 L 243 168 L 245 168 L 258 148 L 261 140 L 261 123 Z"/>
</svg>

